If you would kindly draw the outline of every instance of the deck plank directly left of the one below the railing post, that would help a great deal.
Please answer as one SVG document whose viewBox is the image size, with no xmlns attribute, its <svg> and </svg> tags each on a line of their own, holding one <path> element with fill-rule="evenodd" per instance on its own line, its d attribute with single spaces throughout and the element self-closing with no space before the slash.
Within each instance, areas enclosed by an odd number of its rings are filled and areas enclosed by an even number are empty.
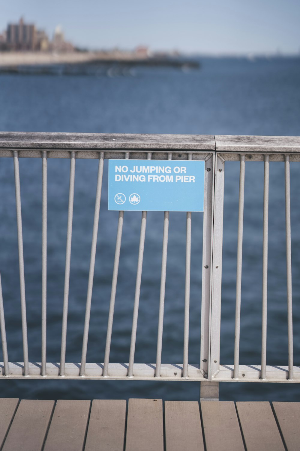
<svg viewBox="0 0 300 451">
<path fill-rule="evenodd" d="M 204 451 L 197 401 L 165 402 L 166 451 Z"/>
</svg>

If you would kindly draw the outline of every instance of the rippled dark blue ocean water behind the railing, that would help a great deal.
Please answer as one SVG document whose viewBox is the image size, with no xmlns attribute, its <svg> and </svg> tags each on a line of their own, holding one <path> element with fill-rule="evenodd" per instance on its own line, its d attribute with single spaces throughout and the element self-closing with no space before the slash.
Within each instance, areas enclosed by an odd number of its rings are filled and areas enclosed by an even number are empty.
<svg viewBox="0 0 300 451">
<path fill-rule="evenodd" d="M 125 77 L 0 76 L 1 131 L 300 135 L 300 58 L 201 59 L 201 69 L 135 69 Z M 59 361 L 69 161 L 48 161 L 47 359 Z M 97 181 L 77 160 L 66 361 L 81 359 Z M 300 365 L 300 178 L 291 165 L 294 360 Z M 41 161 L 20 159 L 29 360 L 40 361 Z M 241 364 L 260 364 L 263 163 L 246 164 Z M 239 164 L 225 164 L 221 362 L 233 362 Z M 22 361 L 13 161 L 0 160 L 0 271 L 10 361 Z M 267 364 L 287 364 L 284 165 L 270 163 Z M 124 219 L 111 362 L 127 362 L 140 213 Z M 189 363 L 200 359 L 202 213 L 192 216 Z M 87 361 L 103 361 L 117 212 L 100 210 Z M 163 213 L 149 212 L 135 362 L 155 362 Z M 162 362 L 182 362 L 185 213 L 170 213 Z M 2 355 L 0 356 L 2 359 Z M 298 384 L 222 383 L 222 400 L 296 400 Z M 197 400 L 197 382 L 2 381 L 0 396 Z"/>
</svg>

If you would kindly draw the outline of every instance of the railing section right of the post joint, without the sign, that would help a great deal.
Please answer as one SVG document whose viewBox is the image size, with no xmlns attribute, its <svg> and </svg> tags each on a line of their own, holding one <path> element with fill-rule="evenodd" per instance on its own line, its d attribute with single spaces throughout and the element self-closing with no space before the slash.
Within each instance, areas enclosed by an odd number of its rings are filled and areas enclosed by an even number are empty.
<svg viewBox="0 0 300 451">
<path fill-rule="evenodd" d="M 291 193 L 290 162 L 300 161 L 300 138 L 296 137 L 241 137 L 216 136 L 216 179 L 214 215 L 213 295 L 211 315 L 210 380 L 242 382 L 300 382 L 299 367 L 293 363 L 293 318 L 291 278 Z M 234 329 L 233 364 L 219 363 L 221 321 L 221 276 L 224 201 L 224 163 L 239 161 L 239 197 L 237 227 L 237 272 Z M 242 250 L 244 223 L 245 166 L 254 161 L 264 165 L 263 184 L 263 230 L 262 230 L 262 315 L 261 315 L 261 361 L 240 365 L 240 323 L 242 288 Z M 287 365 L 272 362 L 267 365 L 267 299 L 268 299 L 268 229 L 269 229 L 269 166 L 270 162 L 284 162 L 285 175 L 285 235 L 287 270 Z M 255 181 L 254 181 L 255 182 Z M 255 283 L 255 281 L 253 281 Z"/>
</svg>

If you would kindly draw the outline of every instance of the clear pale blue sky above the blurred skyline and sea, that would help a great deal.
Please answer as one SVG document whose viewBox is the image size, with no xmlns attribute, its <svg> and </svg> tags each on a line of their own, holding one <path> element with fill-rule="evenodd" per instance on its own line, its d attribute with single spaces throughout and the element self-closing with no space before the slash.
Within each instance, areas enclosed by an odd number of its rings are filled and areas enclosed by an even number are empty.
<svg viewBox="0 0 300 451">
<path fill-rule="evenodd" d="M 300 0 L 0 0 L 0 30 L 21 15 L 90 48 L 299 53 Z"/>
</svg>

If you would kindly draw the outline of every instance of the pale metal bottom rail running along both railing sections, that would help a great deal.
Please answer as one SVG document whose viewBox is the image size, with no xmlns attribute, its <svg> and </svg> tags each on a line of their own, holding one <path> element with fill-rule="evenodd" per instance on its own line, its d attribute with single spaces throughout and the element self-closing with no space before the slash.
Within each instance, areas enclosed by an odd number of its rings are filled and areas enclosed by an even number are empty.
<svg viewBox="0 0 300 451">
<path fill-rule="evenodd" d="M 209 382 L 207 374 L 199 365 L 188 364 L 188 375 L 184 376 L 183 364 L 161 364 L 161 376 L 156 376 L 156 364 L 134 364 L 133 375 L 128 376 L 128 364 L 109 364 L 107 375 L 103 375 L 104 364 L 86 363 L 85 374 L 80 374 L 80 363 L 65 363 L 65 373 L 59 375 L 60 364 L 47 362 L 45 375 L 42 375 L 41 363 L 29 363 L 28 374 L 24 375 L 23 362 L 9 363 L 9 371 L 4 374 L 4 364 L 0 363 L 0 379 L 94 379 L 94 380 L 155 380 Z M 266 377 L 261 377 L 261 365 L 239 365 L 238 374 L 233 377 L 234 365 L 219 365 L 212 376 L 212 382 L 300 382 L 300 367 L 294 366 L 293 378 L 289 379 L 289 367 L 286 365 L 267 365 Z"/>
</svg>

